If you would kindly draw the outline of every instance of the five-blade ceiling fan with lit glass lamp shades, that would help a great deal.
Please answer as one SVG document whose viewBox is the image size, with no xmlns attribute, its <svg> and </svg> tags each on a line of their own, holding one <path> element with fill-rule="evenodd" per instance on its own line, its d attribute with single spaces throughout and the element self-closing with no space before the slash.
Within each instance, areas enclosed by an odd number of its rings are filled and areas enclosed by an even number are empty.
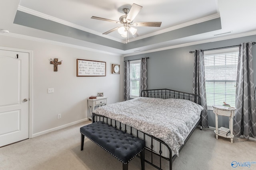
<svg viewBox="0 0 256 170">
<path fill-rule="evenodd" d="M 137 4 L 132 4 L 131 9 L 128 8 L 124 8 L 123 12 L 124 12 L 124 16 L 121 16 L 119 18 L 119 21 L 115 21 L 115 20 L 109 20 L 106 18 L 100 18 L 100 17 L 96 17 L 96 16 L 92 16 L 92 19 L 96 19 L 96 20 L 103 20 L 103 21 L 110 21 L 110 22 L 115 22 L 115 23 L 120 23 L 122 24 L 122 26 L 119 27 L 115 27 L 113 29 L 110 29 L 109 31 L 106 31 L 103 34 L 109 34 L 113 31 L 118 30 L 118 33 L 121 34 L 122 37 L 127 37 L 127 35 L 132 34 L 132 36 L 136 33 L 137 29 L 131 26 L 135 26 L 135 27 L 160 27 L 162 22 L 135 22 L 132 23 L 132 21 L 134 20 L 134 18 L 137 16 L 137 14 L 140 12 L 142 6 L 139 6 Z"/>
</svg>

